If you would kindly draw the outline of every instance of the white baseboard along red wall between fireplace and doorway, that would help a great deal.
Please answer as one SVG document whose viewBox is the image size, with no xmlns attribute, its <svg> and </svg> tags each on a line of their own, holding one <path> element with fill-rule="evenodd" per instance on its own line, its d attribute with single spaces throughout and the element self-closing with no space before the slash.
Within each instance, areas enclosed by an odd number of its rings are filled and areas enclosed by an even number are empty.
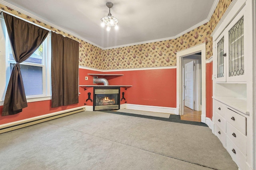
<svg viewBox="0 0 256 170">
<path fill-rule="evenodd" d="M 170 113 L 178 115 L 179 112 L 173 107 L 161 107 L 161 106 L 146 106 L 137 104 L 126 104 L 126 109 L 142 110 L 142 111 L 154 111 L 160 113 Z"/>
</svg>

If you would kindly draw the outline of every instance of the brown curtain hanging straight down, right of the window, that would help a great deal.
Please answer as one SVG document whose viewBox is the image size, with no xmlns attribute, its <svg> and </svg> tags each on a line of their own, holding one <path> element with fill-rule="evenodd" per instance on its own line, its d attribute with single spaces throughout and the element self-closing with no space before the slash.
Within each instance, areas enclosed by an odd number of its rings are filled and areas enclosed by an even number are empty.
<svg viewBox="0 0 256 170">
<path fill-rule="evenodd" d="M 79 43 L 52 32 L 52 107 L 78 103 Z"/>
</svg>

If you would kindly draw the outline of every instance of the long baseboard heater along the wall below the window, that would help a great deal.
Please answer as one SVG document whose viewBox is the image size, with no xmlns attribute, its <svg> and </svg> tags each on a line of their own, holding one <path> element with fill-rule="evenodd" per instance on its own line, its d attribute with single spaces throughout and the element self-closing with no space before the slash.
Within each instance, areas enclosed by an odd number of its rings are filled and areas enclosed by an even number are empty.
<svg viewBox="0 0 256 170">
<path fill-rule="evenodd" d="M 12 123 L 6 123 L 3 125 L 0 125 L 0 134 L 1 133 L 5 133 L 8 131 L 13 131 L 16 129 L 20 129 L 23 127 L 27 127 L 27 126 L 31 126 L 31 125 L 35 125 L 38 123 L 42 123 L 45 121 L 49 121 L 52 119 L 57 119 L 60 117 L 64 117 L 67 115 L 72 115 L 74 113 L 78 113 L 81 111 L 85 111 L 85 107 L 76 107 L 74 109 L 67 109 L 67 110 L 63 110 L 63 111 L 58 111 L 58 112 L 54 112 L 54 113 L 49 113 L 46 115 L 41 115 L 41 116 L 36 116 L 36 117 L 32 117 L 32 118 L 28 118 L 28 119 L 24 119 L 24 120 L 20 120 L 20 121 L 15 121 Z"/>
</svg>

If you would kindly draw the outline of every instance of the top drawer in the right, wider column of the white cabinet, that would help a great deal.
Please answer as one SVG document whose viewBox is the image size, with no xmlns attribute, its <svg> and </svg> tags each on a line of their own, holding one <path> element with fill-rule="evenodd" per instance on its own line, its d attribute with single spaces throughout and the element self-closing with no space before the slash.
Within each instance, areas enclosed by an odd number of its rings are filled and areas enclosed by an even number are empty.
<svg viewBox="0 0 256 170">
<path fill-rule="evenodd" d="M 226 120 L 236 129 L 246 135 L 246 117 L 236 113 L 231 108 L 226 109 Z"/>
</svg>

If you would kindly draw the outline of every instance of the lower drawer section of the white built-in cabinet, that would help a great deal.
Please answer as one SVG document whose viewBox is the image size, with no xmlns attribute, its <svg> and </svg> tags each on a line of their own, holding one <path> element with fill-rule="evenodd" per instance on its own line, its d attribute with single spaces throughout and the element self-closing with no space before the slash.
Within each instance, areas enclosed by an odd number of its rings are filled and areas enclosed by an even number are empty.
<svg viewBox="0 0 256 170">
<path fill-rule="evenodd" d="M 214 134 L 241 170 L 246 169 L 247 117 L 238 110 L 214 100 Z"/>
</svg>

